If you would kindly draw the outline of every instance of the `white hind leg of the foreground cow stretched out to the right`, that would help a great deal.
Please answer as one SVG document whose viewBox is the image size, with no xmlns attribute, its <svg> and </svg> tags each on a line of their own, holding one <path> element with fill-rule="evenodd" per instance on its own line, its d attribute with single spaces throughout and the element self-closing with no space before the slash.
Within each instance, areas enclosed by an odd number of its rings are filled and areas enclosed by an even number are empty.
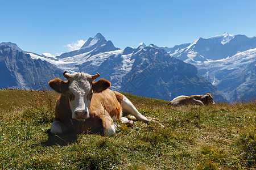
<svg viewBox="0 0 256 170">
<path fill-rule="evenodd" d="M 129 99 L 127 99 L 127 97 L 125 97 L 125 96 L 123 96 L 123 100 L 122 100 L 122 109 L 123 109 L 123 112 L 132 114 L 139 121 L 155 122 L 156 124 L 158 124 L 159 126 L 162 126 L 164 128 L 164 126 L 162 124 L 160 124 L 159 122 L 155 121 L 154 119 L 147 118 L 147 117 L 143 116 L 141 113 L 139 113 L 139 111 L 134 107 L 133 103 L 131 103 L 131 101 Z"/>
</svg>

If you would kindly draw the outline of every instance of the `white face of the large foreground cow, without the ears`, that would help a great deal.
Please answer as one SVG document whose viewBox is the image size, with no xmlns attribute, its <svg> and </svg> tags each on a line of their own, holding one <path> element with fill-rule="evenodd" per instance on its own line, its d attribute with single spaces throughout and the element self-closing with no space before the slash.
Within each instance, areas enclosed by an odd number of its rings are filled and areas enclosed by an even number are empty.
<svg viewBox="0 0 256 170">
<path fill-rule="evenodd" d="M 72 111 L 72 118 L 85 120 L 89 118 L 90 101 L 92 100 L 92 76 L 80 73 L 71 75 L 68 86 L 68 100 Z"/>
</svg>

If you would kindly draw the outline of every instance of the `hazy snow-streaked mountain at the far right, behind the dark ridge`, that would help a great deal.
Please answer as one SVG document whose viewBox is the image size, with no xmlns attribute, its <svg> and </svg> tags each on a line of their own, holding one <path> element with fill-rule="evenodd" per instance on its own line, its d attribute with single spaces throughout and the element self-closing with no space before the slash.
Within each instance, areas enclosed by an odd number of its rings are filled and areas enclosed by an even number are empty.
<svg viewBox="0 0 256 170">
<path fill-rule="evenodd" d="M 188 44 L 164 47 L 171 57 L 195 65 L 228 101 L 256 95 L 256 37 L 224 33 Z"/>
</svg>

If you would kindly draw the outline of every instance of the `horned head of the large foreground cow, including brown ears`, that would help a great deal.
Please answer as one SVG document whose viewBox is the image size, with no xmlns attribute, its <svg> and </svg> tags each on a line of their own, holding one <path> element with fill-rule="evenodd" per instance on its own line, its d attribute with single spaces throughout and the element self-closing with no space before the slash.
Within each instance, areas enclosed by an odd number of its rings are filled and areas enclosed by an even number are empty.
<svg viewBox="0 0 256 170">
<path fill-rule="evenodd" d="M 76 120 L 85 120 L 89 118 L 90 101 L 93 93 L 98 93 L 110 87 L 110 82 L 105 79 L 100 79 L 93 82 L 100 74 L 89 75 L 85 73 L 67 74 L 63 73 L 68 81 L 57 78 L 49 82 L 51 87 L 56 92 L 68 97 L 69 107 L 72 111 L 72 118 Z"/>
</svg>

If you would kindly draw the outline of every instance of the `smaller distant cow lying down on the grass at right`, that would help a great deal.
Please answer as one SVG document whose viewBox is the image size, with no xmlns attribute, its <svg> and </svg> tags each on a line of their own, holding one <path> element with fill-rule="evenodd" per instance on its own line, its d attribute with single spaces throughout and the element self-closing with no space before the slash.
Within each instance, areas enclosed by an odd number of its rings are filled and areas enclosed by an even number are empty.
<svg viewBox="0 0 256 170">
<path fill-rule="evenodd" d="M 169 106 L 176 107 L 179 105 L 187 105 L 187 104 L 196 104 L 196 105 L 207 105 L 207 104 L 215 104 L 213 101 L 213 97 L 210 94 L 206 95 L 193 95 L 193 96 L 178 96 L 175 97 L 170 103 Z"/>
</svg>

